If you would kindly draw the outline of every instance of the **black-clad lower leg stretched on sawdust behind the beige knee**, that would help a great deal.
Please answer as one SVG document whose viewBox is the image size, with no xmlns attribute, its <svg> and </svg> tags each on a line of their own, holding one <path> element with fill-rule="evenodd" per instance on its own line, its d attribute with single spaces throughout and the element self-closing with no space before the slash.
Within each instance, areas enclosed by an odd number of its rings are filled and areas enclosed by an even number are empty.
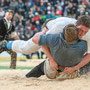
<svg viewBox="0 0 90 90">
<path fill-rule="evenodd" d="M 34 67 L 29 73 L 27 73 L 25 76 L 27 78 L 29 77 L 40 77 L 41 75 L 44 75 L 44 62 L 40 63 L 36 67 Z"/>
</svg>

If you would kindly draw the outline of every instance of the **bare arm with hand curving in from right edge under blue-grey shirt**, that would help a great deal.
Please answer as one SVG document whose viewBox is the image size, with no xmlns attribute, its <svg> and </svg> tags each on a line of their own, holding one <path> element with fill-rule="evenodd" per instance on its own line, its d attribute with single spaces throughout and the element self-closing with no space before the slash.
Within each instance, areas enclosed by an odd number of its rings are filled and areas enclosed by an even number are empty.
<svg viewBox="0 0 90 90">
<path fill-rule="evenodd" d="M 90 53 L 88 53 L 86 56 L 84 56 L 84 58 L 78 65 L 76 65 L 74 67 L 70 67 L 70 68 L 68 68 L 68 67 L 65 68 L 64 72 L 70 74 L 70 73 L 74 72 L 75 70 L 85 66 L 88 62 L 90 62 Z"/>
</svg>

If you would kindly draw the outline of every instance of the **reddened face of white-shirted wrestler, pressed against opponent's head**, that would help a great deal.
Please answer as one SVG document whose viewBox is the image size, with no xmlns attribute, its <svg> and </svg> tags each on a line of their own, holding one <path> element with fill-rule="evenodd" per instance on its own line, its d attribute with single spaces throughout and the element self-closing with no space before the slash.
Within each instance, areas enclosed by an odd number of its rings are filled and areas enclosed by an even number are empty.
<svg viewBox="0 0 90 90">
<path fill-rule="evenodd" d="M 79 39 L 81 39 L 90 29 L 84 25 L 79 25 L 79 26 L 77 26 L 77 28 L 79 30 L 79 34 L 78 34 Z"/>
</svg>

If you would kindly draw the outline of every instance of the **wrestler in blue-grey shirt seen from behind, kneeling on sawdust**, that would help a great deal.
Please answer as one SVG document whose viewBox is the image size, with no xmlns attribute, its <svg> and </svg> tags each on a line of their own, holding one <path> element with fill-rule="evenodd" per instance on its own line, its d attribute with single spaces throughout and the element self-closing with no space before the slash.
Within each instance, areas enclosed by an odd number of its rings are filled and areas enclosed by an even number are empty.
<svg viewBox="0 0 90 90">
<path fill-rule="evenodd" d="M 80 63 L 87 51 L 87 43 L 84 40 L 78 39 L 78 29 L 75 25 L 67 25 L 64 28 L 63 33 L 60 34 L 44 34 L 43 32 L 37 33 L 33 36 L 32 40 L 35 44 L 48 46 L 54 60 L 48 59 L 40 63 L 26 74 L 26 77 L 40 77 L 45 74 L 50 79 L 61 80 L 66 78 L 75 78 L 78 76 L 78 73 L 76 72 L 69 76 L 64 74 L 64 77 L 61 73 L 65 67 L 73 67 Z M 46 53 L 45 48 L 44 51 Z M 54 66 L 55 63 L 57 64 L 57 68 L 53 67 L 53 63 Z M 57 70 L 60 72 L 58 73 Z"/>
</svg>

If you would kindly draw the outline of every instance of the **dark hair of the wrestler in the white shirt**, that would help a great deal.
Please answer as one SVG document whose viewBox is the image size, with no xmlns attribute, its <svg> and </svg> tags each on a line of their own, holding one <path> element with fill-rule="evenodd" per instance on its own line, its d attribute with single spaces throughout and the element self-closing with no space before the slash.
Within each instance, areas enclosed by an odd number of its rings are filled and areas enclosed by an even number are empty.
<svg viewBox="0 0 90 90">
<path fill-rule="evenodd" d="M 89 15 L 82 15 L 77 20 L 77 25 L 84 25 L 90 28 L 90 16 Z"/>
</svg>

